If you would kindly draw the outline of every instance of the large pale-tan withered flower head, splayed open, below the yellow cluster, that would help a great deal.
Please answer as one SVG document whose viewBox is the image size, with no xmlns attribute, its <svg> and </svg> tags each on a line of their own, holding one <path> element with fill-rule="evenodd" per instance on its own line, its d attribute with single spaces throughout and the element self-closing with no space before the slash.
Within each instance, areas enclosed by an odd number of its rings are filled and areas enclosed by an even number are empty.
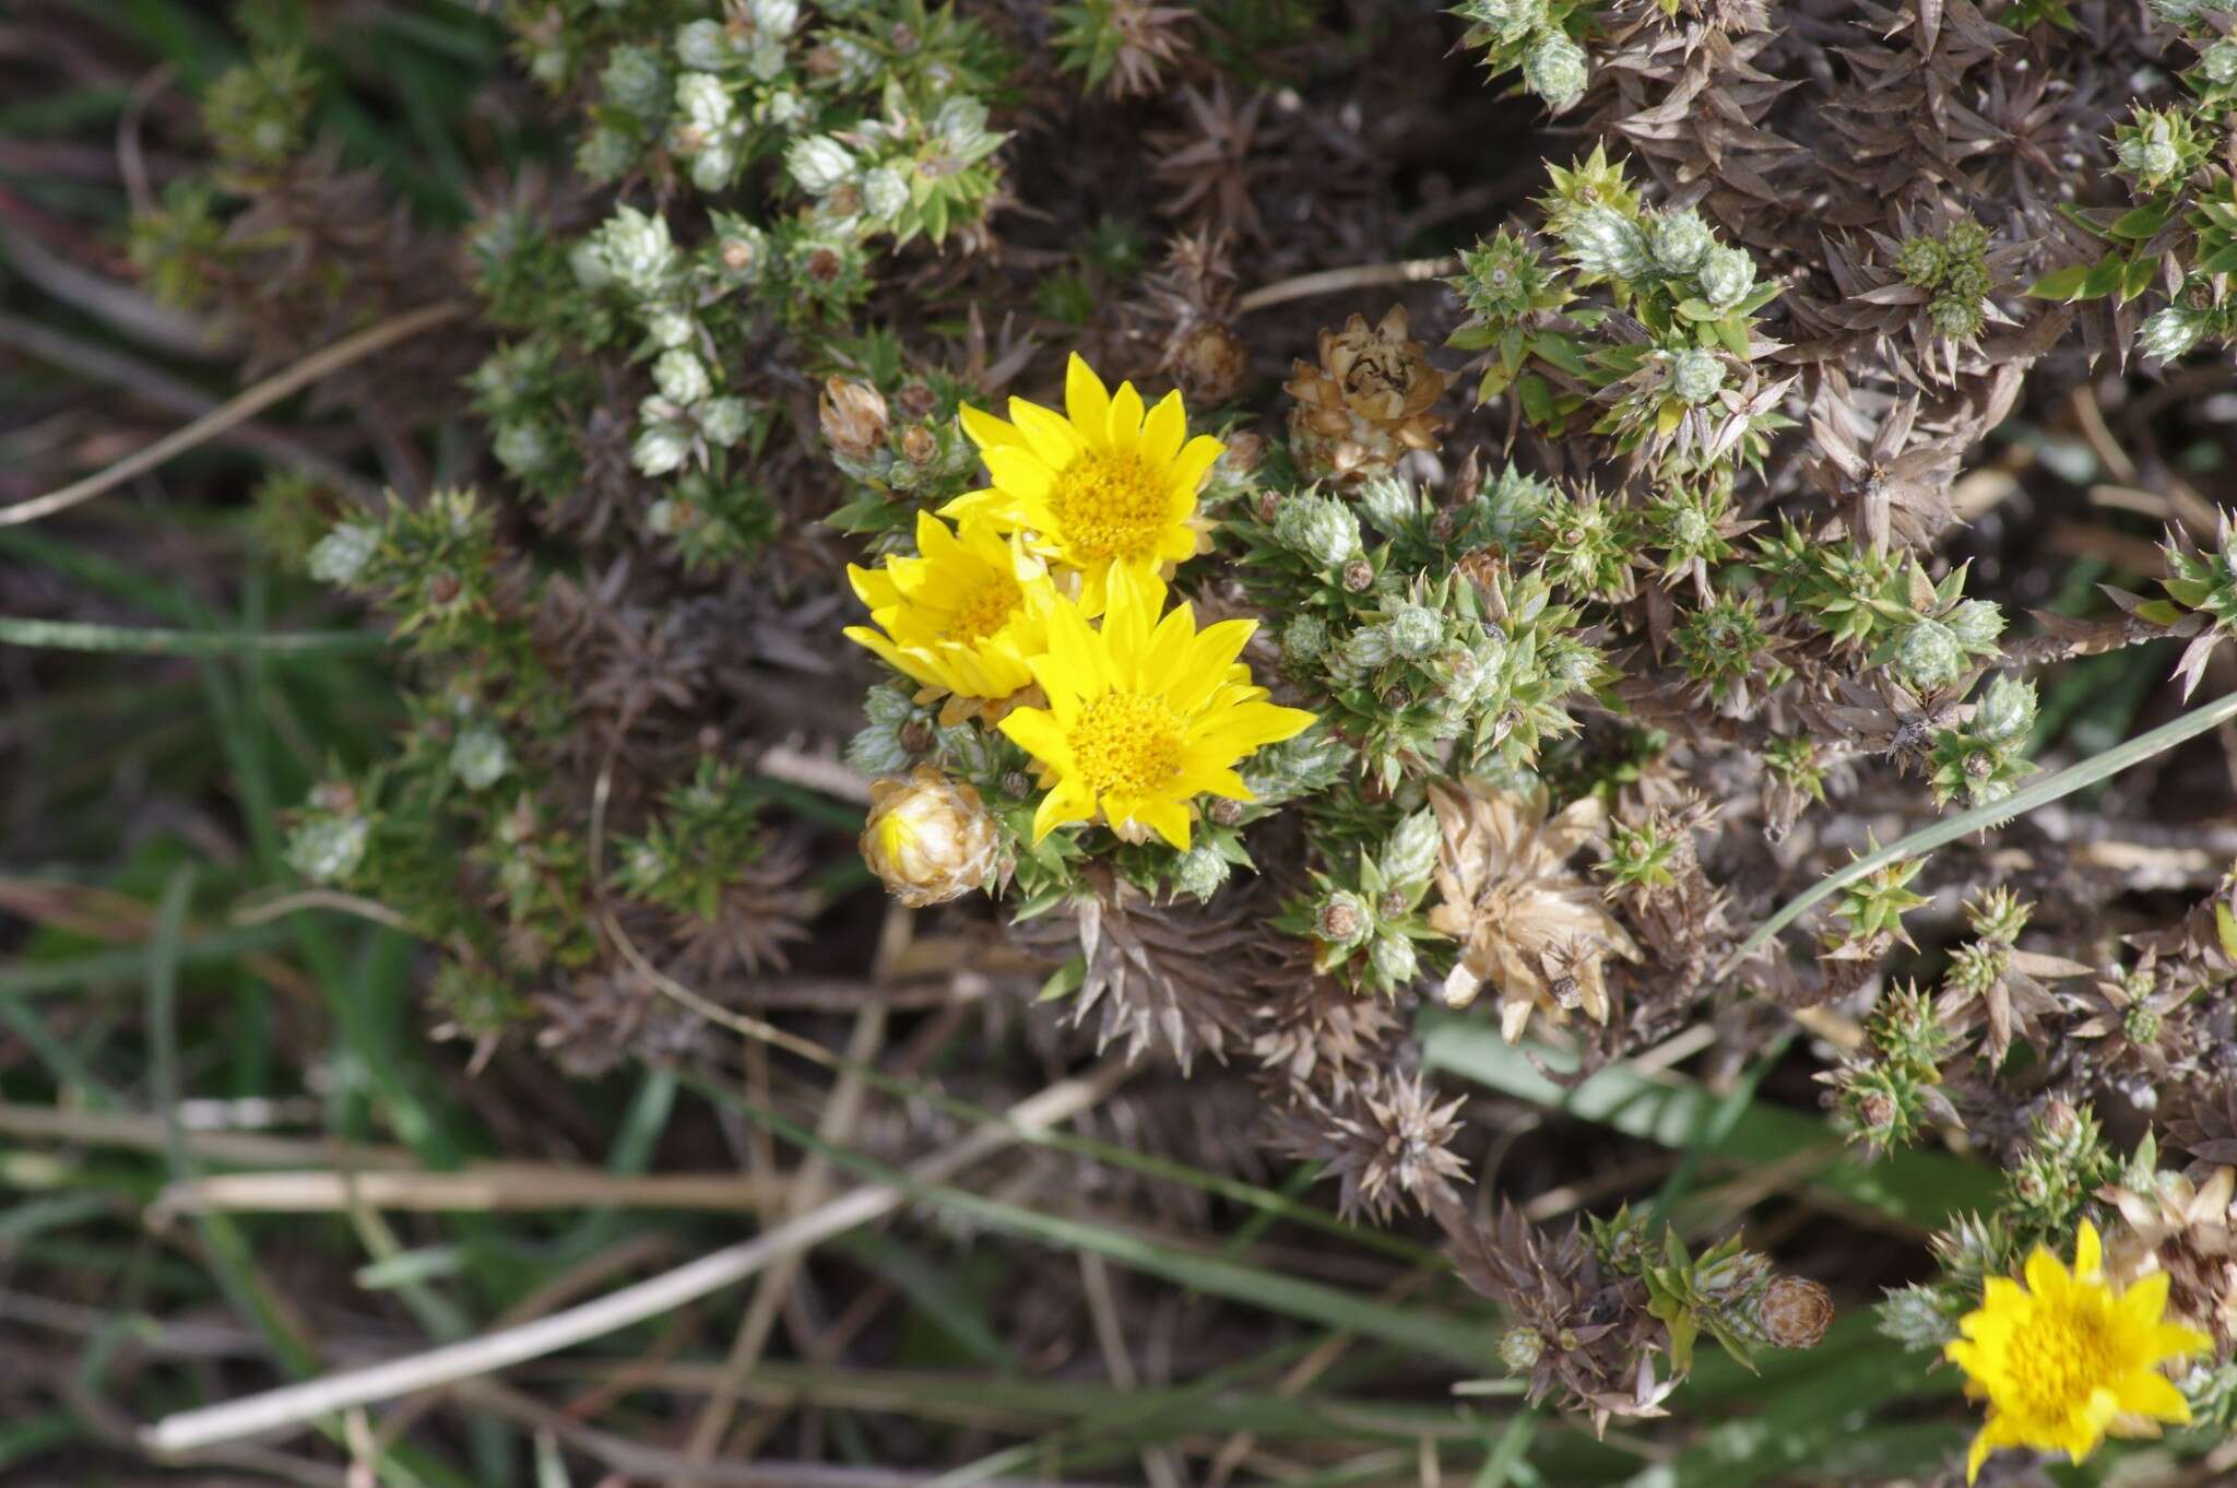
<svg viewBox="0 0 2237 1488">
<path fill-rule="evenodd" d="M 1461 942 L 1445 1005 L 1467 1007 L 1492 982 L 1508 1043 L 1532 1009 L 1555 1023 L 1570 1011 L 1606 1023 L 1606 958 L 1637 960 L 1640 949 L 1599 888 L 1568 866 L 1602 828 L 1599 799 L 1548 819 L 1544 794 L 1436 783 L 1429 806 L 1445 835 L 1429 924 Z"/>
</svg>

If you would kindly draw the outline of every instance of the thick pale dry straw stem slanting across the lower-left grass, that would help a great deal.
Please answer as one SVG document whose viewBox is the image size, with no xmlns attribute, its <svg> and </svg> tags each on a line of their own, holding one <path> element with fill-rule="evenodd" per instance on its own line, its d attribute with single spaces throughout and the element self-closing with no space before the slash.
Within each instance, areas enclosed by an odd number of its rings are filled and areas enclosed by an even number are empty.
<svg viewBox="0 0 2237 1488">
<path fill-rule="evenodd" d="M 1069 1121 L 1114 1092 L 1127 1076 L 1123 1058 L 1107 1058 L 1083 1076 L 1058 1081 L 1009 1108 L 1002 1121 L 987 1123 L 946 1152 L 935 1152 L 908 1168 L 919 1184 L 944 1184 L 971 1164 L 1000 1152 L 1036 1128 Z M 389 1401 L 416 1390 L 436 1390 L 508 1365 L 570 1349 L 615 1329 L 658 1318 L 664 1311 L 696 1302 L 709 1293 L 743 1282 L 783 1255 L 817 1246 L 861 1224 L 890 1215 L 904 1204 L 899 1188 L 866 1184 L 850 1188 L 830 1204 L 776 1226 L 754 1240 L 723 1246 L 711 1255 L 655 1275 L 635 1287 L 570 1307 L 521 1327 L 508 1327 L 481 1338 L 468 1338 L 409 1358 L 394 1358 L 369 1369 L 349 1369 L 324 1378 L 268 1390 L 242 1401 L 206 1405 L 166 1416 L 145 1432 L 141 1445 L 154 1454 L 179 1454 L 197 1448 L 239 1441 L 262 1432 L 286 1430 L 351 1410 Z"/>
</svg>

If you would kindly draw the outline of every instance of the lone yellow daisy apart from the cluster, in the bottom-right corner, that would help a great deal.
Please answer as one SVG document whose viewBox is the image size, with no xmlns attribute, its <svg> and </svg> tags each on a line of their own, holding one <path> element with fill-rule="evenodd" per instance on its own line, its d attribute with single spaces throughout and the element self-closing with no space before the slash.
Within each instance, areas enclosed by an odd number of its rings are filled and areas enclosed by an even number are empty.
<svg viewBox="0 0 2237 1488">
<path fill-rule="evenodd" d="M 2183 1392 L 2161 1365 L 2208 1347 L 2208 1336 L 2165 1320 L 2168 1275 L 2125 1291 L 2105 1284 L 2096 1226 L 2074 1237 L 2074 1271 L 2036 1246 L 2027 1284 L 1989 1278 L 1978 1311 L 1944 1354 L 1966 1372 L 1966 1394 L 1989 1401 L 1973 1437 L 1966 1481 L 1998 1448 L 2065 1452 L 2083 1461 L 2107 1437 L 2156 1437 L 2159 1421 L 2190 1421 Z"/>
</svg>

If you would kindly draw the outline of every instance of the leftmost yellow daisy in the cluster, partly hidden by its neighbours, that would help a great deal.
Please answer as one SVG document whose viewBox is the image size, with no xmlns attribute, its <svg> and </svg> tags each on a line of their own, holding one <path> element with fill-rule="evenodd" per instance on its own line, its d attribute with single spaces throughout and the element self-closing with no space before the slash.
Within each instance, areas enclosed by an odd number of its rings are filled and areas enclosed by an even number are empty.
<svg viewBox="0 0 2237 1488">
<path fill-rule="evenodd" d="M 1025 662 L 1047 649 L 1056 586 L 1018 539 L 984 521 L 951 533 L 917 512 L 917 557 L 886 557 L 881 568 L 848 564 L 846 573 L 884 629 L 850 624 L 848 640 L 919 682 L 919 700 L 953 694 L 944 723 L 980 712 L 971 698 L 1000 700 L 1033 685 Z"/>
</svg>

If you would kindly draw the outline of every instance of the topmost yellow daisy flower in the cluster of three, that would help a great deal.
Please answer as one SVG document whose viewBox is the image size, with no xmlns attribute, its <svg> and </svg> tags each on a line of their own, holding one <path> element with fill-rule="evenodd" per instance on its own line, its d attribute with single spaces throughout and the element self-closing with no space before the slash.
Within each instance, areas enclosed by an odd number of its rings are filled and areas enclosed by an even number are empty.
<svg viewBox="0 0 2237 1488">
<path fill-rule="evenodd" d="M 962 421 L 993 486 L 948 501 L 942 515 L 1033 533 L 1042 553 L 1080 571 L 1089 613 L 1103 609 L 1112 568 L 1148 580 L 1197 550 L 1197 488 L 1224 445 L 1188 436 L 1181 394 L 1145 414 L 1132 383 L 1107 392 L 1074 351 L 1063 414 L 1011 398 L 1009 423 L 971 405 Z"/>
</svg>

